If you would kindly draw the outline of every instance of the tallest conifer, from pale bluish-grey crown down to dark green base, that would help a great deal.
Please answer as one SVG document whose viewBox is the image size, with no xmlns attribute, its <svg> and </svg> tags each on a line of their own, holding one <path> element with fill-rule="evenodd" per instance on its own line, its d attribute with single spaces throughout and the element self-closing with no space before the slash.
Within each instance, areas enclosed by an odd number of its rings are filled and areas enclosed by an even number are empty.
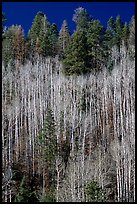
<svg viewBox="0 0 137 204">
<path fill-rule="evenodd" d="M 92 20 L 86 9 L 79 7 L 72 19 L 77 27 L 64 54 L 64 72 L 67 75 L 89 72 L 87 33 Z"/>
</svg>

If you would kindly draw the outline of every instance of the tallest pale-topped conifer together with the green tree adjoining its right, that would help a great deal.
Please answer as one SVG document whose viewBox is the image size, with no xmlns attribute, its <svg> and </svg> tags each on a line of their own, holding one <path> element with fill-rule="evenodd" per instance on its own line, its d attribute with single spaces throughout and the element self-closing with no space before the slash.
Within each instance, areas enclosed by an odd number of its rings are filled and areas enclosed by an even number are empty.
<svg viewBox="0 0 137 204">
<path fill-rule="evenodd" d="M 73 20 L 77 30 L 64 54 L 64 73 L 79 75 L 101 69 L 106 58 L 103 49 L 104 27 L 83 8 L 75 10 Z"/>
</svg>

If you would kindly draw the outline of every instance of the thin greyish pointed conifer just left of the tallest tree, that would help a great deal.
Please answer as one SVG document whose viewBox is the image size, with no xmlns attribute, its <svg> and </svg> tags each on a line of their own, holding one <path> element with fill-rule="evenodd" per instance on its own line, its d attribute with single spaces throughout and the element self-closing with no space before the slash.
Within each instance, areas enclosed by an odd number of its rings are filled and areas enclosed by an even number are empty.
<svg viewBox="0 0 137 204">
<path fill-rule="evenodd" d="M 63 56 L 64 50 L 68 47 L 70 40 L 70 31 L 68 29 L 67 21 L 64 20 L 58 38 L 58 54 L 61 57 Z"/>
</svg>

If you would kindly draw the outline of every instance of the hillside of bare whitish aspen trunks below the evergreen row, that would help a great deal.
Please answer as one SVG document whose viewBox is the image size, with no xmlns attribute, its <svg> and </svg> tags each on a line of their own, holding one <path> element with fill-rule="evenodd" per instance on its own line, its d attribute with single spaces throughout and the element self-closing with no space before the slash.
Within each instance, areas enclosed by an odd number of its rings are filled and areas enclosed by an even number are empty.
<svg viewBox="0 0 137 204">
<path fill-rule="evenodd" d="M 111 74 L 65 77 L 57 57 L 3 66 L 5 202 L 134 201 L 135 62 L 121 56 Z"/>
</svg>

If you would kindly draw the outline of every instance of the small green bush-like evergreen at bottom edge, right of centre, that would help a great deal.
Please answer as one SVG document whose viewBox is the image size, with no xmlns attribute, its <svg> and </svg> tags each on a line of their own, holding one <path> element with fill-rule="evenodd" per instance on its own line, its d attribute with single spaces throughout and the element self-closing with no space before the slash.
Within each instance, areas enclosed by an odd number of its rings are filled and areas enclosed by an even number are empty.
<svg viewBox="0 0 137 204">
<path fill-rule="evenodd" d="M 91 181 L 85 188 L 88 202 L 105 202 L 105 193 L 96 181 Z"/>
</svg>

